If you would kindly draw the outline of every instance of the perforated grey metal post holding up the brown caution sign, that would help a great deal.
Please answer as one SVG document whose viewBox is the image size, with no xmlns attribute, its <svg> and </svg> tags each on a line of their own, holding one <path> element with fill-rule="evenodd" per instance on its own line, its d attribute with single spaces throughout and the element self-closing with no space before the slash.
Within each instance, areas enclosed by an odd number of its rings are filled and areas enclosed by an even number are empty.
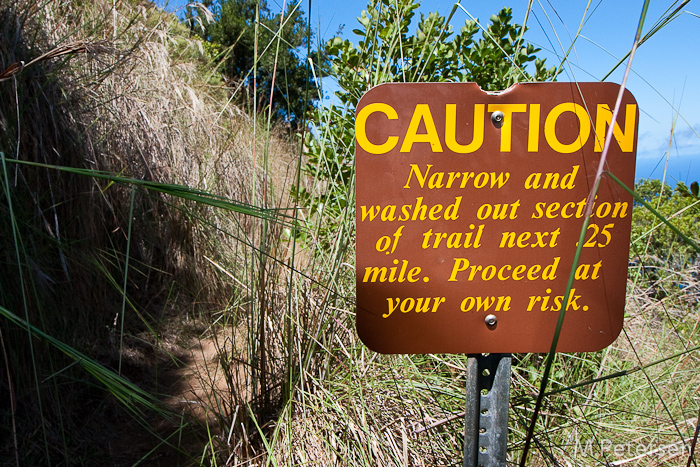
<svg viewBox="0 0 700 467">
<path fill-rule="evenodd" d="M 510 364 L 510 354 L 469 356 L 463 467 L 506 465 Z"/>
</svg>

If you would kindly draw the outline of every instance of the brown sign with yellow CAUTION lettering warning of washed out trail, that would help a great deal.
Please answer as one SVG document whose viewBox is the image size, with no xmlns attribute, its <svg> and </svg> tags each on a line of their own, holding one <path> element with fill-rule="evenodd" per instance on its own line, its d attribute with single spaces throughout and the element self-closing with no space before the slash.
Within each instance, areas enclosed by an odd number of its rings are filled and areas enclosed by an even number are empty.
<svg viewBox="0 0 700 467">
<path fill-rule="evenodd" d="M 357 330 L 384 353 L 548 352 L 622 329 L 638 109 L 612 83 L 394 83 L 355 116 Z"/>
</svg>

